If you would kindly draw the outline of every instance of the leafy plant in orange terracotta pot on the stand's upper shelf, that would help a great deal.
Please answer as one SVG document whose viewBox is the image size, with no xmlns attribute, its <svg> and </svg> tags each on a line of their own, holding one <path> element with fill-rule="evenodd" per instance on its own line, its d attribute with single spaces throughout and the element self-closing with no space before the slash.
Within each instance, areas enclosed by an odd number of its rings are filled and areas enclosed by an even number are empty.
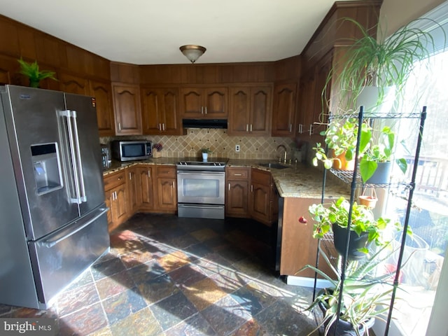
<svg viewBox="0 0 448 336">
<path fill-rule="evenodd" d="M 325 137 L 325 144 L 332 150 L 332 156 L 325 153 L 325 148 L 320 143 L 316 144 L 314 151 L 316 155 L 313 158 L 313 165 L 318 161 L 323 162 L 326 169 L 334 167 L 335 169 L 353 170 L 354 158 L 356 154 L 356 141 L 358 137 L 358 119 L 356 118 L 335 118 L 328 123 L 328 127 L 321 135 Z M 372 138 L 372 128 L 363 123 L 360 134 L 359 153 L 365 151 Z"/>
</svg>

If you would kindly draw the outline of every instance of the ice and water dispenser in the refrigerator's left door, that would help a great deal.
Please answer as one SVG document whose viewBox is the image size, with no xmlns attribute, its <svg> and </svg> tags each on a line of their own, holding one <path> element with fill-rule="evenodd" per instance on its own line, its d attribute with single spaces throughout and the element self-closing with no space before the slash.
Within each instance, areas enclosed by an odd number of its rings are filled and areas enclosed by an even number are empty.
<svg viewBox="0 0 448 336">
<path fill-rule="evenodd" d="M 57 143 L 31 145 L 31 158 L 38 195 L 62 188 Z"/>
</svg>

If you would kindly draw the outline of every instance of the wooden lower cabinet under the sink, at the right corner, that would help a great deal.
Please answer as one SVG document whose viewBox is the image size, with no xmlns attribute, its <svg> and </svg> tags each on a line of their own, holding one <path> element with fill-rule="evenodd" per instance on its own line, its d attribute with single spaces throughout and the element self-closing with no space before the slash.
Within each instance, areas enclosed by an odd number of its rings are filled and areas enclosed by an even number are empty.
<svg viewBox="0 0 448 336">
<path fill-rule="evenodd" d="M 269 172 L 252 169 L 249 214 L 251 218 L 269 226 L 278 216 L 278 200 L 274 189 L 274 181 Z"/>
</svg>

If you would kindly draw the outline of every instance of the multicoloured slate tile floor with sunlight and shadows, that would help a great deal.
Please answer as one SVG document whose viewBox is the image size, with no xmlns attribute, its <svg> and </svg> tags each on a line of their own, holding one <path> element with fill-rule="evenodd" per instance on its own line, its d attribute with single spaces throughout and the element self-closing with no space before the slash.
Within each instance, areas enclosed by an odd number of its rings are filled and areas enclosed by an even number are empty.
<svg viewBox="0 0 448 336">
<path fill-rule="evenodd" d="M 57 318 L 59 335 L 307 335 L 311 290 L 276 275 L 271 246 L 247 219 L 137 214 L 51 309 L 0 317 Z"/>
</svg>

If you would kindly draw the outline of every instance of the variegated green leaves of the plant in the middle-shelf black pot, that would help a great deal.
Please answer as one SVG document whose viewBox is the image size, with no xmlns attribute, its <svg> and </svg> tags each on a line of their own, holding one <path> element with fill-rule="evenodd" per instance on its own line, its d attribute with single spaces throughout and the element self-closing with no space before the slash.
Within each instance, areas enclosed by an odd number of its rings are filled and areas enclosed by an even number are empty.
<svg viewBox="0 0 448 336">
<path fill-rule="evenodd" d="M 350 202 L 344 197 L 339 197 L 331 204 L 312 204 L 308 211 L 314 220 L 313 237 L 323 238 L 326 233 L 332 232 L 332 225 L 346 228 L 349 223 L 349 209 Z M 384 245 L 382 232 L 390 222 L 390 219 L 383 217 L 375 220 L 372 210 L 353 202 L 350 230 L 356 232 L 358 236 L 367 232 L 367 244 L 374 241 L 377 246 Z M 400 223 L 395 223 L 395 228 L 400 230 Z M 367 248 L 362 248 L 361 251 L 368 253 Z"/>
</svg>

